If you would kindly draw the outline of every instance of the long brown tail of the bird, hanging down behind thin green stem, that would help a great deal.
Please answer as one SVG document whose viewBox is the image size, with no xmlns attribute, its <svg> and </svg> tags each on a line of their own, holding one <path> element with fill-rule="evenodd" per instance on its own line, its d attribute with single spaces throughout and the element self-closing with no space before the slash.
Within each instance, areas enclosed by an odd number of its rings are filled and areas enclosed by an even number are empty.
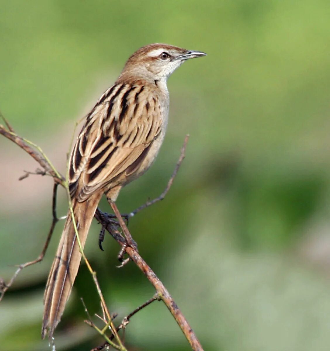
<svg viewBox="0 0 330 351">
<path fill-rule="evenodd" d="M 95 210 L 102 194 L 94 194 L 84 202 L 73 203 L 73 213 L 81 245 L 84 247 Z M 74 201 L 74 200 L 73 200 Z M 69 210 L 44 294 L 44 319 L 41 336 L 49 337 L 58 325 L 77 276 L 81 253 Z"/>
</svg>

